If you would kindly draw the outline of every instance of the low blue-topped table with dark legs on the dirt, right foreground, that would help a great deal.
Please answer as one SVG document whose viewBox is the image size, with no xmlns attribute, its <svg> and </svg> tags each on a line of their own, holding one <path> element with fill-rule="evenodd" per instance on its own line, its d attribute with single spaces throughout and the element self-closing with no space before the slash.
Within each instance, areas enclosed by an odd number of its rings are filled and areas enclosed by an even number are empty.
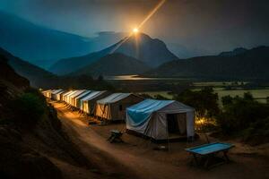
<svg viewBox="0 0 269 179">
<path fill-rule="evenodd" d="M 196 166 L 204 166 L 205 168 L 209 168 L 212 166 L 220 165 L 224 162 L 229 162 L 230 158 L 228 157 L 228 152 L 234 145 L 230 143 L 221 143 L 221 142 L 214 142 L 208 143 L 200 146 L 196 146 L 194 148 L 187 148 L 185 149 L 187 152 L 193 155 L 193 162 L 195 162 Z M 216 158 L 218 153 L 223 154 L 223 158 L 216 164 L 210 166 L 210 161 L 213 158 Z"/>
</svg>

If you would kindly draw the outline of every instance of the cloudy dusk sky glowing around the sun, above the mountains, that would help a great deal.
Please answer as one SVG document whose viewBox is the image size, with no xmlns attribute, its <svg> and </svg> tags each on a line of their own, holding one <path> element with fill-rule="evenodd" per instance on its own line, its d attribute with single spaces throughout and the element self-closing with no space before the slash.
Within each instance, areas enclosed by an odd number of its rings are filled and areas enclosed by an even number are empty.
<svg viewBox="0 0 269 179">
<path fill-rule="evenodd" d="M 85 37 L 130 31 L 157 0 L 1 0 L 0 11 Z M 141 31 L 173 51 L 212 55 L 235 47 L 269 45 L 268 0 L 167 0 Z M 176 53 L 177 54 L 177 53 Z"/>
</svg>

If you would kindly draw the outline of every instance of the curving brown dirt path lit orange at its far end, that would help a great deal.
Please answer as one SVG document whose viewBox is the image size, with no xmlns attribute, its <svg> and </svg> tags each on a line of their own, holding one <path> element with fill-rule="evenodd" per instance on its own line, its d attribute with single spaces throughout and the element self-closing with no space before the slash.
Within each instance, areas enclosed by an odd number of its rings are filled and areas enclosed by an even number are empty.
<svg viewBox="0 0 269 179">
<path fill-rule="evenodd" d="M 94 132 L 81 117 L 69 111 L 61 103 L 53 102 L 58 117 L 65 126 L 71 139 L 82 149 L 82 153 L 94 160 L 101 170 L 122 178 L 264 178 L 259 172 L 249 166 L 253 162 L 230 164 L 211 171 L 204 171 L 187 165 L 173 166 L 151 158 L 128 152 L 128 149 L 108 143 L 99 133 Z M 95 156 L 95 157 L 94 157 Z M 249 159 L 249 158 L 247 158 Z M 253 164 L 253 163 L 252 163 Z M 235 167 L 237 166 L 237 167 Z M 260 165 L 259 165 L 260 166 Z M 266 171 L 268 168 L 259 168 Z M 256 171 L 256 172 L 255 172 Z"/>
</svg>

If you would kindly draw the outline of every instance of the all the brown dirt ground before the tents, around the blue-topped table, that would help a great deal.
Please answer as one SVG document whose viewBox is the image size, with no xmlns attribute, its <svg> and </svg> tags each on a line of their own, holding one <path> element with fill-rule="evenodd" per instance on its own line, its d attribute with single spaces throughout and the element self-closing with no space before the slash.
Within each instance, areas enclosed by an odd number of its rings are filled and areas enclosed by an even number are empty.
<svg viewBox="0 0 269 179">
<path fill-rule="evenodd" d="M 187 165 L 191 157 L 184 151 L 187 147 L 204 143 L 203 139 L 192 143 L 169 143 L 169 151 L 160 151 L 153 150 L 157 144 L 125 133 L 124 143 L 111 144 L 107 141 L 109 131 L 122 131 L 125 129 L 124 124 L 89 125 L 85 117 L 70 111 L 64 104 L 50 103 L 56 108 L 65 132 L 97 168 L 96 171 L 69 168 L 52 159 L 63 171 L 65 178 L 269 178 L 267 144 L 257 149 L 230 141 L 236 145 L 230 151 L 232 162 L 204 170 Z M 93 175 L 92 172 L 105 175 Z"/>
</svg>

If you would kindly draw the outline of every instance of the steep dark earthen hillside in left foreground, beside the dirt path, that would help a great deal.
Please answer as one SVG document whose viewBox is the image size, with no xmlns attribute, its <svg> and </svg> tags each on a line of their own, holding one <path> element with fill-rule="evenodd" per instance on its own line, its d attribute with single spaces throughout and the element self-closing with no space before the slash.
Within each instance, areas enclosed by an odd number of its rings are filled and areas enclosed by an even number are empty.
<svg viewBox="0 0 269 179">
<path fill-rule="evenodd" d="M 50 158 L 89 169 L 45 98 L 0 56 L 0 178 L 62 178 Z"/>
</svg>

